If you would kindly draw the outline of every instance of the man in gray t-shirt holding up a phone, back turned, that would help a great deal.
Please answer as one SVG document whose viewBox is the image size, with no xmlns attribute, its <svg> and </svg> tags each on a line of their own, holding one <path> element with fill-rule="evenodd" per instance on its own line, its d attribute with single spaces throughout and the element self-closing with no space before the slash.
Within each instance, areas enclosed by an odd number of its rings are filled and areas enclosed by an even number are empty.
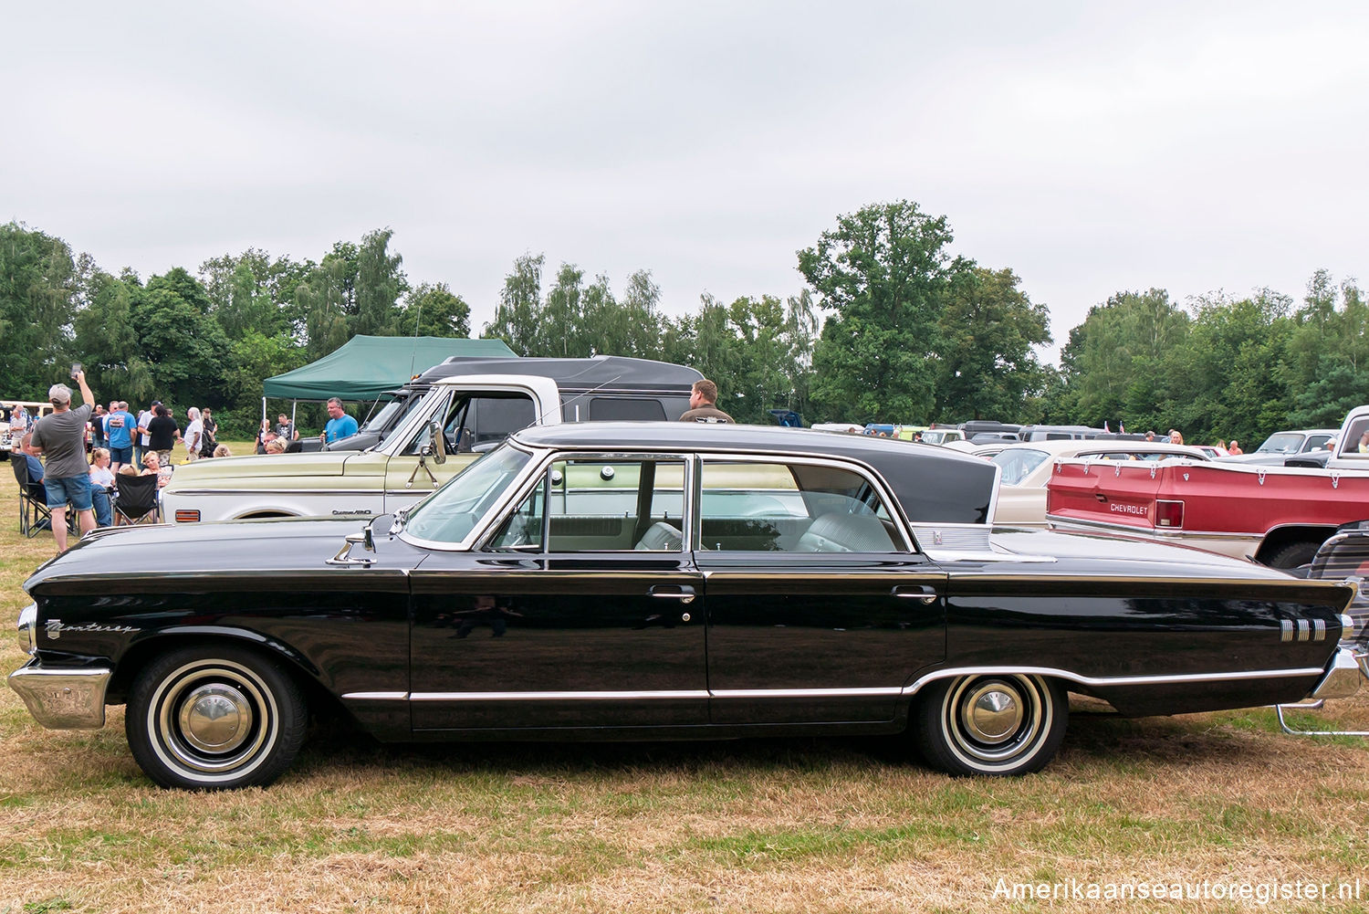
<svg viewBox="0 0 1369 914">
<path fill-rule="evenodd" d="M 52 508 L 52 536 L 57 540 L 57 554 L 67 551 L 67 503 L 81 517 L 81 534 L 94 529 L 90 503 L 90 465 L 85 456 L 85 428 L 90 421 L 94 395 L 85 382 L 85 371 L 77 371 L 82 406 L 71 408 L 71 388 L 53 384 L 48 388 L 48 402 L 53 412 L 42 417 L 33 429 L 31 451 L 44 456 L 42 485 L 48 489 Z"/>
</svg>

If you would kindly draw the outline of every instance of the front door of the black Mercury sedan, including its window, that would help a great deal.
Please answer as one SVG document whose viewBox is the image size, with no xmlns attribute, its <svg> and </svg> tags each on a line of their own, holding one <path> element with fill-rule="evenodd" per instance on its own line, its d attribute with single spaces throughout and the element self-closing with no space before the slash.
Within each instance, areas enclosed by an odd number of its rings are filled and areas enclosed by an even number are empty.
<svg viewBox="0 0 1369 914">
<path fill-rule="evenodd" d="M 412 576 L 413 729 L 708 722 L 679 458 L 557 460 L 475 552 Z"/>
</svg>

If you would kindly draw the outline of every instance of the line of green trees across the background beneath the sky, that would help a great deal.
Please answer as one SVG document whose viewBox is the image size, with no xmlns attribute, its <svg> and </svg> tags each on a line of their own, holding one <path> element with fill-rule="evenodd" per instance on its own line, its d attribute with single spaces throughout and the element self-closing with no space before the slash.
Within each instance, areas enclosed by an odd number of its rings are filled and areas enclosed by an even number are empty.
<svg viewBox="0 0 1369 914">
<path fill-rule="evenodd" d="M 0 226 L 0 397 L 41 399 L 71 360 L 97 396 L 211 406 L 230 434 L 255 428 L 261 381 L 352 336 L 471 336 L 445 282 L 412 285 L 393 233 L 338 241 L 318 262 L 249 248 L 141 280 L 101 270 L 59 237 Z M 1369 402 L 1366 304 L 1316 273 L 1299 304 L 1261 291 L 1180 306 L 1117 292 L 1069 332 L 1058 367 L 1049 311 L 1005 267 L 953 254 L 945 215 L 916 203 L 842 215 L 797 252 L 793 295 L 708 293 L 682 315 L 638 270 L 609 277 L 542 254 L 515 259 L 479 336 L 526 356 L 628 355 L 690 365 L 743 422 L 990 418 L 1180 428 L 1191 441 L 1336 425 Z M 320 419 L 305 411 L 304 425 Z"/>
</svg>

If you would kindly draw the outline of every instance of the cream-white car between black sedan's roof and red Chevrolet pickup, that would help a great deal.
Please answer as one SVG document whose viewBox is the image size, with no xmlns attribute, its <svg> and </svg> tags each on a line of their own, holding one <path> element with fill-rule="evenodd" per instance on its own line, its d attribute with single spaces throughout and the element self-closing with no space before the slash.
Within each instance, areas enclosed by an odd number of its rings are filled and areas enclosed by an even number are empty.
<svg viewBox="0 0 1369 914">
<path fill-rule="evenodd" d="M 986 444 L 972 454 L 998 465 L 995 523 L 1046 526 L 1046 482 L 1057 460 L 1206 460 L 1198 448 L 1144 440 L 1057 439 L 1021 444 Z"/>
</svg>

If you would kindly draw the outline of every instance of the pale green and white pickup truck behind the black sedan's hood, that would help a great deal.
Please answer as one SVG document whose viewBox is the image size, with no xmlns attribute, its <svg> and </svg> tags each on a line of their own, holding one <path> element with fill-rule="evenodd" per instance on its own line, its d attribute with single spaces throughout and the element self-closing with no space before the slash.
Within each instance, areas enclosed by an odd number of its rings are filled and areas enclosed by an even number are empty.
<svg viewBox="0 0 1369 914">
<path fill-rule="evenodd" d="M 512 432 L 560 422 L 561 415 L 560 391 L 546 377 L 444 378 L 367 451 L 215 458 L 181 466 L 162 491 L 162 512 L 172 523 L 386 514 L 433 492 Z"/>
</svg>

